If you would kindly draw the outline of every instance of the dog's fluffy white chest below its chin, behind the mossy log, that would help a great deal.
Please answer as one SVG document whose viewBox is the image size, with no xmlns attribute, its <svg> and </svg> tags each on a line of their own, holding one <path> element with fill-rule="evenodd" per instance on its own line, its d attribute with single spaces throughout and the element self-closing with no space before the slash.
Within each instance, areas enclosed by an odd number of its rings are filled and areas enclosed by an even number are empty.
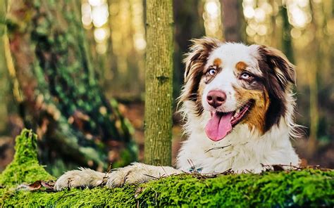
<svg viewBox="0 0 334 208">
<path fill-rule="evenodd" d="M 178 156 L 178 167 L 184 171 L 200 169 L 203 174 L 221 173 L 228 169 L 240 171 L 260 169 L 273 153 L 273 143 L 264 139 L 231 135 L 220 142 L 209 141 L 202 135 L 193 135 L 183 144 Z M 233 136 L 233 137 L 232 137 Z"/>
</svg>

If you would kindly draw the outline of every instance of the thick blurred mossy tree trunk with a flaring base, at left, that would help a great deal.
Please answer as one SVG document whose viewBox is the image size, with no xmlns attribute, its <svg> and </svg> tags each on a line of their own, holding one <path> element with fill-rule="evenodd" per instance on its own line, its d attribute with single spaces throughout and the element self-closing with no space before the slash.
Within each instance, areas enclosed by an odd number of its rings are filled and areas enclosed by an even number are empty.
<svg viewBox="0 0 334 208">
<path fill-rule="evenodd" d="M 102 169 L 105 143 L 111 162 L 131 162 L 131 126 L 97 84 L 80 1 L 18 0 L 9 8 L 7 63 L 20 84 L 20 115 L 39 135 L 42 163 L 52 164 L 54 175 L 68 164 Z"/>
</svg>

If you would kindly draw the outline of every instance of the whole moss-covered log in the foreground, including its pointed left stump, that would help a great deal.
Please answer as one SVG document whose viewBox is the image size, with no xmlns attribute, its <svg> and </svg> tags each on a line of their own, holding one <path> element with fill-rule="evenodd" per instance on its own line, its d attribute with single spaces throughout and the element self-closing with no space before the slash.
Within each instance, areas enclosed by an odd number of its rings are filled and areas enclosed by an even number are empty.
<svg viewBox="0 0 334 208">
<path fill-rule="evenodd" d="M 304 169 L 216 178 L 184 174 L 123 188 L 18 190 L 21 183 L 54 179 L 39 166 L 36 136 L 16 138 L 16 156 L 0 175 L 0 207 L 333 207 L 334 171 Z"/>
</svg>

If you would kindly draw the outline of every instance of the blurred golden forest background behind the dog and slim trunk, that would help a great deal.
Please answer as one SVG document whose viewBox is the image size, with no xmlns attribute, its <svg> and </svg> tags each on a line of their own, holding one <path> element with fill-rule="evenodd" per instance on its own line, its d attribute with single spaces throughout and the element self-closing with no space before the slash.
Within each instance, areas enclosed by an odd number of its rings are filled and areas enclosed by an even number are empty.
<svg viewBox="0 0 334 208">
<path fill-rule="evenodd" d="M 0 0 L 0 171 L 25 127 L 37 132 L 39 158 L 54 176 L 78 165 L 105 170 L 108 162 L 142 161 L 145 2 L 41 2 Z M 192 38 L 279 48 L 297 66 L 296 119 L 305 128 L 295 148 L 304 164 L 334 167 L 333 0 L 175 0 L 173 13 L 174 98 Z M 185 139 L 180 125 L 175 112 L 172 163 Z"/>
</svg>

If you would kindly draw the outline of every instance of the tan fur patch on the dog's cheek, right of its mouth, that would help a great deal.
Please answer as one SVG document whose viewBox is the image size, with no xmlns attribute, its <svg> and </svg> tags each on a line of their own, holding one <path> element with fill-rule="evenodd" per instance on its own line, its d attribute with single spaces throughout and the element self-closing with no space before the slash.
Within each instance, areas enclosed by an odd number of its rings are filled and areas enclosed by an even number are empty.
<svg viewBox="0 0 334 208">
<path fill-rule="evenodd" d="M 268 110 L 270 100 L 267 91 L 256 91 L 252 89 L 235 88 L 235 96 L 238 102 L 245 105 L 249 100 L 254 100 L 252 108 L 249 110 L 242 124 L 247 124 L 249 129 L 257 129 L 261 134 L 266 131 L 264 126 L 266 122 L 266 111 Z"/>
</svg>

